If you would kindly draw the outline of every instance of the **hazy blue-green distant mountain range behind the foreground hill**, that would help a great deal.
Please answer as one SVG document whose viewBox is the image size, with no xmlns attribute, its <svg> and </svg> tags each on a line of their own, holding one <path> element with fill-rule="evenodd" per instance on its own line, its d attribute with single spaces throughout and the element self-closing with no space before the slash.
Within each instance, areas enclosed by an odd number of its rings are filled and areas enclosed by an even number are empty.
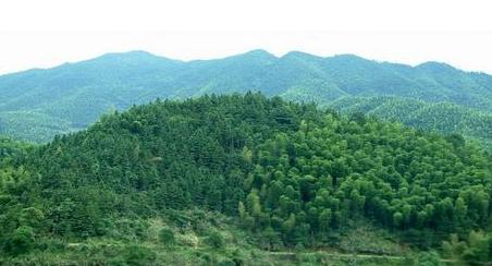
<svg viewBox="0 0 492 266">
<path fill-rule="evenodd" d="M 402 118 L 404 122 L 427 113 L 428 102 L 483 112 L 484 120 L 477 123 L 487 124 L 492 112 L 492 77 L 444 63 L 414 68 L 350 55 L 321 58 L 290 52 L 278 58 L 262 50 L 184 62 L 134 51 L 0 76 L 0 133 L 46 142 L 54 134 L 85 129 L 102 113 L 157 97 L 183 99 L 248 90 L 323 106 L 354 96 L 394 96 L 401 98 L 395 102 L 403 113 L 408 113 Z M 422 101 L 419 113 L 407 112 L 407 100 Z M 446 129 L 445 133 L 451 130 L 472 138 L 483 135 L 483 129 L 467 116 L 456 117 L 446 108 L 423 119 L 444 123 L 417 124 L 423 129 Z M 471 126 L 453 129 L 456 119 Z"/>
</svg>

